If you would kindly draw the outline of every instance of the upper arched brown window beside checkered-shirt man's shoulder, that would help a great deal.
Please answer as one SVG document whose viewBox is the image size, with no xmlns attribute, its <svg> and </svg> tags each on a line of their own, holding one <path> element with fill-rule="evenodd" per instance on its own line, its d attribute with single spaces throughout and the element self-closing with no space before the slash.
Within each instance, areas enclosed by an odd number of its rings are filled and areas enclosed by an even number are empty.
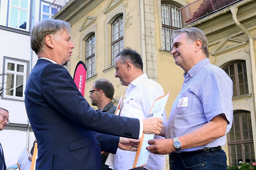
<svg viewBox="0 0 256 170">
<path fill-rule="evenodd" d="M 245 61 L 236 61 L 223 70 L 233 81 L 233 97 L 249 93 Z"/>
</svg>

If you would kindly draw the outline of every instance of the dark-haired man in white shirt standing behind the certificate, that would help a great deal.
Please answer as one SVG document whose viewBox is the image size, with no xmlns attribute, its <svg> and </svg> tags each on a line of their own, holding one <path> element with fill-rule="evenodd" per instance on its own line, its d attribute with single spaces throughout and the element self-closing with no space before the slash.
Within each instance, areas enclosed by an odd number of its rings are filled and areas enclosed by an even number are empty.
<svg viewBox="0 0 256 170">
<path fill-rule="evenodd" d="M 117 54 L 115 61 L 116 74 L 121 84 L 128 86 L 123 101 L 123 108 L 120 116 L 130 118 L 147 118 L 154 101 L 164 95 L 160 84 L 143 74 L 143 62 L 141 56 L 135 50 L 126 48 Z M 162 114 L 163 125 L 167 118 L 165 111 Z M 162 138 L 155 135 L 155 138 Z M 113 159 L 114 170 L 132 169 L 136 152 L 123 151 L 118 149 Z M 164 170 L 165 155 L 149 154 L 147 164 L 140 169 Z M 137 170 L 137 168 L 136 168 Z"/>
</svg>

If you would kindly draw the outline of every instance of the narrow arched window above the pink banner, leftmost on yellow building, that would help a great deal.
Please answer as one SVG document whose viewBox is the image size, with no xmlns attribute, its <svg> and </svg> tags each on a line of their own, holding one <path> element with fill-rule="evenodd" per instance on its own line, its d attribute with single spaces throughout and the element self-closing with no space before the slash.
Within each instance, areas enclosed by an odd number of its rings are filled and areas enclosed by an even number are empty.
<svg viewBox="0 0 256 170">
<path fill-rule="evenodd" d="M 95 35 L 90 36 L 86 41 L 86 78 L 95 75 Z"/>
</svg>

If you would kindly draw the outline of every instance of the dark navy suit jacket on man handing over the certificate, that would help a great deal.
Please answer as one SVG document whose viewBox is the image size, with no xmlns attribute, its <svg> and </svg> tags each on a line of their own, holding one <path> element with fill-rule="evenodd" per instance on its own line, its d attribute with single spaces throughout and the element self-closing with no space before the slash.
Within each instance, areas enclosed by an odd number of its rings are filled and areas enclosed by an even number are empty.
<svg viewBox="0 0 256 170">
<path fill-rule="evenodd" d="M 138 119 L 95 111 L 68 71 L 45 59 L 29 75 L 25 106 L 38 143 L 37 170 L 98 170 L 101 150 L 116 152 L 116 136 L 139 137 Z"/>
</svg>

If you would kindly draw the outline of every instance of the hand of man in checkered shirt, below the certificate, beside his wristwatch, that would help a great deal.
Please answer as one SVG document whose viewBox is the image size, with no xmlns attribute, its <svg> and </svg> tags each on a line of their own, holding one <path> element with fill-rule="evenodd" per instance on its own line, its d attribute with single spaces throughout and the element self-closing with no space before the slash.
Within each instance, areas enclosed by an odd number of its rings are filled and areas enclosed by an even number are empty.
<svg viewBox="0 0 256 170">
<path fill-rule="evenodd" d="M 165 155 L 176 151 L 173 146 L 173 139 L 151 139 L 148 144 L 150 145 L 146 149 L 154 154 Z"/>
</svg>

